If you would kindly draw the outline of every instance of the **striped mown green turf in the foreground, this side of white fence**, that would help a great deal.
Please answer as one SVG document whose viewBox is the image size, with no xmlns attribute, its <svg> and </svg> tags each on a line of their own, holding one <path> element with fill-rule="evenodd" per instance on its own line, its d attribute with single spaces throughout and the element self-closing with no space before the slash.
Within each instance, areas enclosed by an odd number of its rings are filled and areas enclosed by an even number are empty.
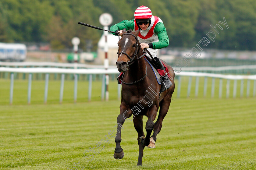
<svg viewBox="0 0 256 170">
<path fill-rule="evenodd" d="M 108 137 L 105 148 L 87 162 L 91 157 L 82 154 L 114 130 L 119 104 L 0 105 L 0 169 L 72 169 L 75 162 L 84 169 L 256 169 L 255 98 L 175 99 L 157 148 L 144 149 L 142 166 L 136 166 L 132 122 L 123 125 L 123 159 L 113 158 L 115 142 Z"/>
</svg>

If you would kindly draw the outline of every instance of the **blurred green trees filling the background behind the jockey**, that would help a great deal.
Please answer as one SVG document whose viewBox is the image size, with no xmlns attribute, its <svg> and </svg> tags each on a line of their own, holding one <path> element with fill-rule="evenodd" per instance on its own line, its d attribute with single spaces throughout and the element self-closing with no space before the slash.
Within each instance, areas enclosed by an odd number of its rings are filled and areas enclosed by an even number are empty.
<svg viewBox="0 0 256 170">
<path fill-rule="evenodd" d="M 96 50 L 102 31 L 99 16 L 108 12 L 113 23 L 133 19 L 137 7 L 148 6 L 164 22 L 169 47 L 192 48 L 225 17 L 228 29 L 216 34 L 206 48 L 255 50 L 255 0 L 1 0 L 0 42 L 48 42 L 52 49 L 72 48 L 77 36 L 84 50 Z M 111 26 L 111 25 L 110 25 Z M 218 28 L 217 28 L 218 29 Z"/>
</svg>

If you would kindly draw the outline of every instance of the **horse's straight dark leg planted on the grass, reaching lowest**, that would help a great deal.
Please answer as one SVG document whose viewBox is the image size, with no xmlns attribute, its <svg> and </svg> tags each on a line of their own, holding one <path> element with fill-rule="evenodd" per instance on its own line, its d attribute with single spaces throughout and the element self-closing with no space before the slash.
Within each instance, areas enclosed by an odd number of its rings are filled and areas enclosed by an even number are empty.
<svg viewBox="0 0 256 170">
<path fill-rule="evenodd" d="M 143 132 L 143 121 L 142 121 L 142 116 L 141 115 L 137 115 L 134 117 L 133 119 L 133 125 L 134 128 L 136 129 L 137 133 L 138 133 L 138 144 L 139 144 L 139 158 L 138 158 L 138 163 L 137 165 L 142 165 L 142 157 L 143 157 L 143 150 L 145 145 L 143 145 L 140 142 L 140 137 L 144 136 L 144 132 Z"/>
</svg>

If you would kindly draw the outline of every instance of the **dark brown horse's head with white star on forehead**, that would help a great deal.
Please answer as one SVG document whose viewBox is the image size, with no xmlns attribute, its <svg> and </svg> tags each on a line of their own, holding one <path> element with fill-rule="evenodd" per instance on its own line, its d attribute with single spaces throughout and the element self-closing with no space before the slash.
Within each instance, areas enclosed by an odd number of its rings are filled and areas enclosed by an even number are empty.
<svg viewBox="0 0 256 170">
<path fill-rule="evenodd" d="M 137 53 L 140 50 L 140 43 L 137 39 L 140 30 L 132 32 L 123 29 L 123 36 L 118 41 L 118 59 L 116 67 L 119 72 L 125 72 L 127 67 L 133 63 L 133 60 L 137 58 Z M 129 67 L 128 67 L 129 69 Z"/>
</svg>

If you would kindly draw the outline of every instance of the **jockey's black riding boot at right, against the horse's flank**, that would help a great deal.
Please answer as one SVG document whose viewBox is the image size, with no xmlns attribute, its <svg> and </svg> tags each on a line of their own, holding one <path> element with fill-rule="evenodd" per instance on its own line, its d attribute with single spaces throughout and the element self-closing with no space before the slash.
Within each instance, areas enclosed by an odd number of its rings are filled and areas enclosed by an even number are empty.
<svg viewBox="0 0 256 170">
<path fill-rule="evenodd" d="M 155 57 L 155 59 L 156 59 L 156 61 L 154 62 L 154 64 L 155 64 L 156 68 L 164 70 L 164 72 L 165 72 L 165 67 L 164 67 L 163 63 L 158 58 Z M 163 92 L 172 86 L 172 82 L 170 81 L 166 72 L 165 72 L 165 75 L 161 76 L 161 82 L 162 82 L 162 87 L 161 87 L 160 92 Z"/>
</svg>

